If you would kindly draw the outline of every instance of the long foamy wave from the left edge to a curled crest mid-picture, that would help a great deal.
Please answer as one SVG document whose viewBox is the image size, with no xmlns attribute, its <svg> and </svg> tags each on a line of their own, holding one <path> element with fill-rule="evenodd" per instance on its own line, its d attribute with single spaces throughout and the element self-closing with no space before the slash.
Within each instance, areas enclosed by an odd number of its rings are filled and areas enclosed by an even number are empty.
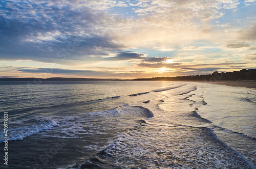
<svg viewBox="0 0 256 169">
<path fill-rule="evenodd" d="M 133 127 L 146 123 L 144 118 L 154 117 L 153 112 L 142 106 L 130 106 L 129 104 L 113 109 L 94 112 L 82 112 L 78 115 L 35 117 L 17 125 L 22 127 L 8 129 L 8 140 L 20 140 L 33 134 L 36 137 L 59 138 L 84 138 L 105 134 L 103 128 L 109 128 L 109 132 L 118 132 L 123 126 Z M 51 120 L 49 120 L 51 119 Z M 55 120 L 56 119 L 56 120 Z M 95 123 L 97 121 L 98 123 Z M 55 127 L 57 126 L 57 127 Z M 90 126 L 90 127 L 88 127 Z M 52 129 L 52 132 L 43 132 Z M 112 131 L 113 130 L 113 131 Z M 1 134 L 1 142 L 4 142 L 4 134 Z"/>
</svg>

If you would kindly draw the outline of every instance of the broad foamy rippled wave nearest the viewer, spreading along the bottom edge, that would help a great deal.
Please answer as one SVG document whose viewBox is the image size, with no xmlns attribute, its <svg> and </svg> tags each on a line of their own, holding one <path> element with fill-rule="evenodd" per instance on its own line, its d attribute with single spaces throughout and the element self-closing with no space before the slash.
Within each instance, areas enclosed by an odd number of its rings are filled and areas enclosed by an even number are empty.
<svg viewBox="0 0 256 169">
<path fill-rule="evenodd" d="M 172 129 L 180 131 L 169 132 Z M 187 135 L 188 131 L 195 135 Z M 215 162 L 209 163 L 205 158 L 215 159 Z M 134 128 L 119 134 L 80 164 L 80 168 L 193 167 L 254 168 L 241 153 L 230 148 L 207 127 L 160 128 L 152 132 L 147 132 L 145 127 Z"/>
</svg>

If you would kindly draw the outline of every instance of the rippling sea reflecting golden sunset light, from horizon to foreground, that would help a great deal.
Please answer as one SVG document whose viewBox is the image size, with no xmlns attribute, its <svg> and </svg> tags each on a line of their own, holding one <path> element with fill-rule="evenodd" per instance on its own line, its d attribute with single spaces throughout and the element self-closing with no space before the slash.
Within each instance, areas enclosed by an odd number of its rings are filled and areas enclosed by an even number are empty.
<svg viewBox="0 0 256 169">
<path fill-rule="evenodd" d="M 173 81 L 0 82 L 1 168 L 255 168 L 256 90 Z"/>
</svg>

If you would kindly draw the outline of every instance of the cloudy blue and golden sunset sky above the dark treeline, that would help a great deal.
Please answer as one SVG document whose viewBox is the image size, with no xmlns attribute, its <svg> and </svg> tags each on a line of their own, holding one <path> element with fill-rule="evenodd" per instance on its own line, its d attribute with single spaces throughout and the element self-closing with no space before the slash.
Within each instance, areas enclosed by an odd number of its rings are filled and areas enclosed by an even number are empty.
<svg viewBox="0 0 256 169">
<path fill-rule="evenodd" d="M 256 68 L 256 0 L 0 1 L 0 78 Z"/>
</svg>

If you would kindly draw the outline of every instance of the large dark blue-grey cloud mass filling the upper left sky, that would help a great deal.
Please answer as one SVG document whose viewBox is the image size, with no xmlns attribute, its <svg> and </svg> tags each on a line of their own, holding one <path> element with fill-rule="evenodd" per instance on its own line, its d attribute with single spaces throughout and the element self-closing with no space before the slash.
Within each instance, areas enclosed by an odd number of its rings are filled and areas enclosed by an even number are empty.
<svg viewBox="0 0 256 169">
<path fill-rule="evenodd" d="M 112 22 L 105 13 L 59 1 L 52 3 L 2 4 L 0 60 L 62 63 L 122 49 L 113 36 L 105 33 L 106 20 Z"/>
</svg>

